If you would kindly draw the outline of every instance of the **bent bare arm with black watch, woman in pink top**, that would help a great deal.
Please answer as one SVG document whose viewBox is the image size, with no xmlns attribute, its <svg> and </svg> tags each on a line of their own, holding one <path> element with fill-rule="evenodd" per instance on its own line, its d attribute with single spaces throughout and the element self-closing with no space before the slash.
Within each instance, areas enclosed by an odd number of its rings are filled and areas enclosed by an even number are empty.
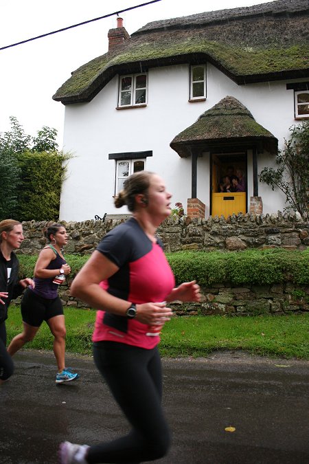
<svg viewBox="0 0 309 464">
<path fill-rule="evenodd" d="M 70 293 L 87 302 L 94 309 L 102 309 L 117 316 L 126 316 L 131 303 L 117 298 L 100 287 L 100 282 L 113 276 L 119 267 L 104 254 L 95 250 L 87 263 L 74 278 Z M 170 318 L 172 311 L 162 303 L 144 303 L 137 305 L 136 319 L 144 324 L 155 324 L 160 318 Z"/>
</svg>

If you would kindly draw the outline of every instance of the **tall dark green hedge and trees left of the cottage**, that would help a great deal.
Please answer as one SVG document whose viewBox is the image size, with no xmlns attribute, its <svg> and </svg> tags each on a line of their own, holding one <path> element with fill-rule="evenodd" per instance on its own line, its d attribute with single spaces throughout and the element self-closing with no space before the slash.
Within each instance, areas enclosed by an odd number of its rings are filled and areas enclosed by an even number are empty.
<svg viewBox="0 0 309 464">
<path fill-rule="evenodd" d="M 56 129 L 43 126 L 31 137 L 13 116 L 10 124 L 0 133 L 0 220 L 56 221 L 69 155 L 58 151 Z"/>
</svg>

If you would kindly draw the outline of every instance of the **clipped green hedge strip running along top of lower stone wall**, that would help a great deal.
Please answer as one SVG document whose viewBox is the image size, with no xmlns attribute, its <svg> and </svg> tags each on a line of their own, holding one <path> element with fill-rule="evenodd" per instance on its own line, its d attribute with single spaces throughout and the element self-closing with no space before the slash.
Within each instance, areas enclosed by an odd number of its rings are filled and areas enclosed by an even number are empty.
<svg viewBox="0 0 309 464">
<path fill-rule="evenodd" d="M 305 251 L 246 250 L 243 252 L 175 252 L 166 254 L 176 283 L 196 280 L 202 287 L 216 283 L 265 285 L 290 281 L 309 284 L 309 249 Z M 67 254 L 71 276 L 89 255 Z M 37 256 L 19 255 L 21 276 L 33 275 Z"/>
</svg>

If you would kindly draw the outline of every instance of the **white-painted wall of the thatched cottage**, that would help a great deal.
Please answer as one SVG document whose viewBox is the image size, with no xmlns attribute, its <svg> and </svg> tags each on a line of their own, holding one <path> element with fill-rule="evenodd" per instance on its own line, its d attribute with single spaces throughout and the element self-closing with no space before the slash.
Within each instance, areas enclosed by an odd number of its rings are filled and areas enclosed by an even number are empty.
<svg viewBox="0 0 309 464">
<path fill-rule="evenodd" d="M 117 110 L 117 91 L 115 76 L 91 102 L 65 108 L 64 150 L 72 157 L 61 193 L 61 220 L 84 221 L 94 219 L 95 214 L 127 212 L 113 206 L 115 160 L 108 159 L 109 153 L 152 150 L 146 169 L 163 177 L 172 192 L 172 203 L 181 201 L 186 207 L 191 197 L 191 158 L 179 157 L 170 142 L 226 96 L 240 100 L 253 118 L 277 137 L 279 148 L 290 135 L 288 128 L 295 124 L 293 91 L 286 90 L 286 81 L 240 86 L 210 64 L 205 102 L 188 102 L 188 65 L 149 70 L 147 107 Z M 258 172 L 264 166 L 275 166 L 274 161 L 267 153 L 258 155 Z M 249 202 L 253 195 L 251 152 L 248 188 Z M 198 158 L 197 197 L 206 205 L 206 217 L 209 191 L 209 156 L 205 153 Z M 283 211 L 284 197 L 279 192 L 259 183 L 259 195 L 264 214 Z"/>
</svg>

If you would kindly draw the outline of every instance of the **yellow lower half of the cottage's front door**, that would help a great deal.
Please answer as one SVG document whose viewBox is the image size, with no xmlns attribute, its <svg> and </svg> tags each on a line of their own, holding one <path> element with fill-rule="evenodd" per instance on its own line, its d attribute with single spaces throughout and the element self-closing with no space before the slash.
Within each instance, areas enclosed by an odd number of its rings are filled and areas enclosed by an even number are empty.
<svg viewBox="0 0 309 464">
<path fill-rule="evenodd" d="M 246 192 L 212 193 L 211 216 L 223 215 L 225 218 L 238 212 L 246 213 Z"/>
</svg>

